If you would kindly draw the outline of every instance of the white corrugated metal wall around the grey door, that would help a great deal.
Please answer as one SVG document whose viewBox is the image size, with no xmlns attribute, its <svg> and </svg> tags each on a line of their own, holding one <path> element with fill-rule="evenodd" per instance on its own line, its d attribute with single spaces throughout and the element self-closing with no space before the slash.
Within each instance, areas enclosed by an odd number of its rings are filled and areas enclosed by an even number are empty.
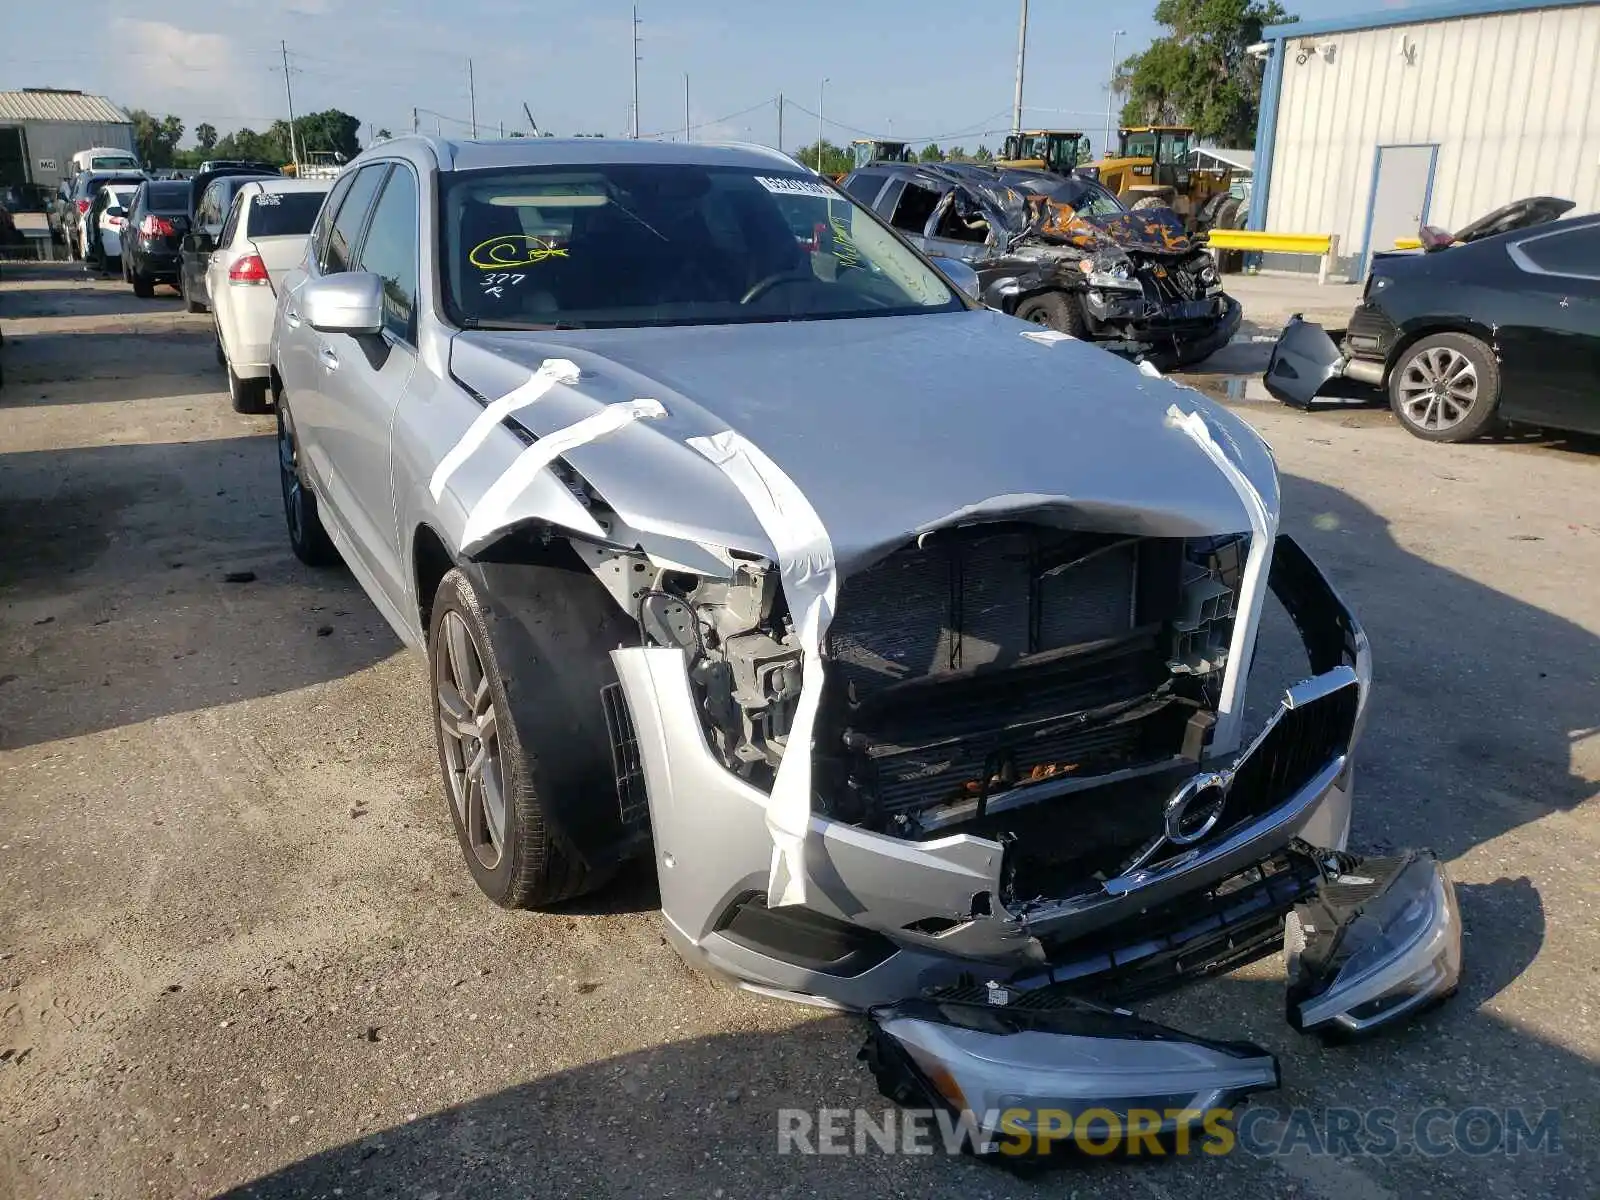
<svg viewBox="0 0 1600 1200">
<path fill-rule="evenodd" d="M 1406 142 L 1438 144 L 1429 222 L 1443 229 L 1526 195 L 1600 210 L 1600 5 L 1307 42 L 1304 64 L 1285 43 L 1267 229 L 1339 234 L 1360 254 L 1376 150 Z"/>
</svg>

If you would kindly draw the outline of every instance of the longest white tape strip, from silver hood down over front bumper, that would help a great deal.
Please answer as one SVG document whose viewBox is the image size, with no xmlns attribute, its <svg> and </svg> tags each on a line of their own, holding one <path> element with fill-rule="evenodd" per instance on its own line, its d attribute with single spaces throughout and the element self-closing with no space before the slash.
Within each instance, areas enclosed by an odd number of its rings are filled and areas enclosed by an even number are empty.
<svg viewBox="0 0 1600 1200">
<path fill-rule="evenodd" d="M 778 574 L 803 653 L 800 699 L 789 726 L 787 749 L 766 798 L 773 835 L 773 867 L 766 904 L 805 904 L 805 838 L 811 824 L 811 738 L 822 701 L 822 638 L 834 619 L 838 573 L 834 544 L 821 517 L 782 469 L 739 434 L 693 437 L 690 445 L 715 462 L 755 512 L 778 552 Z"/>
</svg>

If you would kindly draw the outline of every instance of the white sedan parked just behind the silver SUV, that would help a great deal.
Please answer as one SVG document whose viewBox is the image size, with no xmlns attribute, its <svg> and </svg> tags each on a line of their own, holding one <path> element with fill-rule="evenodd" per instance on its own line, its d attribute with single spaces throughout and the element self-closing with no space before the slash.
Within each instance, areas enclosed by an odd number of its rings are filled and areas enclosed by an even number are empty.
<svg viewBox="0 0 1600 1200">
<path fill-rule="evenodd" d="M 254 179 L 238 189 L 206 264 L 218 358 L 238 413 L 267 410 L 277 283 L 306 256 L 331 179 Z"/>
</svg>

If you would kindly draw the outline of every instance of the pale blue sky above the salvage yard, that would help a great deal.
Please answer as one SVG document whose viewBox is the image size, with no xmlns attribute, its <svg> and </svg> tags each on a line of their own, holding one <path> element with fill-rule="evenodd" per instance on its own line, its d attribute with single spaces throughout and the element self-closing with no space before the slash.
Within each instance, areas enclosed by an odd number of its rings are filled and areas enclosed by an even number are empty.
<svg viewBox="0 0 1600 1200">
<path fill-rule="evenodd" d="M 1290 0 L 1301 18 L 1403 0 Z M 342 109 L 365 125 L 467 136 L 526 130 L 523 104 L 558 134 L 629 131 L 630 5 L 618 0 L 6 0 L 0 91 L 82 88 L 125 107 L 176 114 L 219 133 L 264 130 L 286 112 Z M 1032 0 L 1026 123 L 1080 128 L 1096 149 L 1117 56 L 1158 34 L 1144 3 Z M 640 133 L 682 138 L 685 74 L 696 141 L 814 142 L 821 110 L 835 142 L 867 134 L 995 146 L 1011 123 L 1016 0 L 642 0 Z M 822 80 L 827 80 L 824 85 Z M 821 99 L 819 99 L 821 94 Z"/>
</svg>

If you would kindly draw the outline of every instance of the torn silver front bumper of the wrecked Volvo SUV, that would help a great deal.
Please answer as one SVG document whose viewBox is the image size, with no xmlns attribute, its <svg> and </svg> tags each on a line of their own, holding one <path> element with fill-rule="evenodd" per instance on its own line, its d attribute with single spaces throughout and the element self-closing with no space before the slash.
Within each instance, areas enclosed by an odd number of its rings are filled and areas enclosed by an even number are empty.
<svg viewBox="0 0 1600 1200">
<path fill-rule="evenodd" d="M 1278 722 L 1299 720 L 1334 693 L 1355 698 L 1342 741 L 1291 790 L 1258 787 L 1237 805 L 1248 818 L 1218 822 L 1214 834 L 1181 846 L 1157 846 L 1138 867 L 1090 890 L 1026 901 L 1006 899 L 1006 851 L 995 840 L 954 834 L 910 842 L 813 814 L 811 928 L 766 938 L 752 936 L 741 918 L 750 898 L 766 891 L 766 795 L 706 746 L 680 651 L 613 651 L 643 763 L 670 939 L 691 963 L 741 984 L 867 1010 L 974 970 L 990 978 L 997 970 L 1000 978 L 1034 973 L 1107 930 L 1128 928 L 1128 942 L 1138 942 L 1152 907 L 1198 896 L 1296 840 L 1342 846 L 1350 755 L 1371 678 L 1366 638 L 1290 538 L 1277 542 L 1270 586 L 1299 626 L 1315 672 L 1285 698 Z M 1261 760 L 1277 752 L 1266 733 L 1253 750 Z M 1216 766 L 1195 779 L 1224 779 Z M 1222 786 L 1259 781 L 1259 766 L 1251 752 L 1240 755 Z M 1040 803 L 1048 803 L 1045 787 L 1035 792 Z M 1283 898 L 1278 912 L 1293 899 Z"/>
</svg>

